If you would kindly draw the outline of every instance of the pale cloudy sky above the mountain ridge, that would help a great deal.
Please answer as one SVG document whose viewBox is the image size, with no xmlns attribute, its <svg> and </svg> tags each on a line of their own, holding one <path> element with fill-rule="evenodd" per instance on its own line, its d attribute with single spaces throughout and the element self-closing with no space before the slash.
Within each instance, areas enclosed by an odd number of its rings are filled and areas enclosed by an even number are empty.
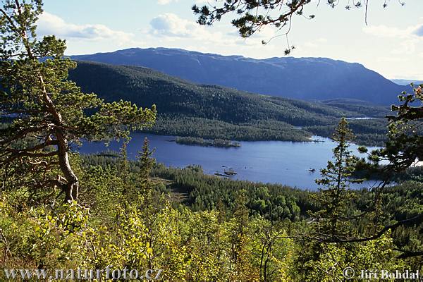
<svg viewBox="0 0 423 282">
<path fill-rule="evenodd" d="M 313 20 L 293 18 L 288 39 L 296 49 L 290 56 L 357 62 L 386 78 L 423 80 L 422 0 L 405 0 L 404 6 L 386 0 L 386 8 L 384 0 L 369 0 L 367 25 L 364 8 L 347 11 L 348 0 L 338 1 L 331 8 L 312 0 L 305 15 L 315 15 Z M 44 0 L 38 34 L 66 39 L 68 55 L 168 47 L 256 59 L 285 56 L 286 37 L 262 44 L 284 30 L 266 27 L 243 39 L 232 16 L 211 27 L 197 25 L 193 4 L 207 0 Z"/>
</svg>

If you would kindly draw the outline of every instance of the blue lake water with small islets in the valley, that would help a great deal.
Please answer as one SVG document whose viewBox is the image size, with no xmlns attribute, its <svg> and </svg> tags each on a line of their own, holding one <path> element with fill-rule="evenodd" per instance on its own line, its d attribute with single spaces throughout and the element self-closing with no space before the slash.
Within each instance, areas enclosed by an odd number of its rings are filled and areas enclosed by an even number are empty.
<svg viewBox="0 0 423 282">
<path fill-rule="evenodd" d="M 319 169 L 324 168 L 327 160 L 332 157 L 332 149 L 336 143 L 328 138 L 314 136 L 324 142 L 286 142 L 286 141 L 256 141 L 240 142 L 241 147 L 217 148 L 179 145 L 172 136 L 149 135 L 133 133 L 128 144 L 128 158 L 135 159 L 142 149 L 144 138 L 150 141 L 154 148 L 153 157 L 166 166 L 185 167 L 188 165 L 202 166 L 204 173 L 214 174 L 232 168 L 238 173 L 233 179 L 250 180 L 262 183 L 280 183 L 296 188 L 316 190 L 315 178 L 319 178 Z M 105 147 L 102 142 L 85 142 L 79 148 L 82 154 L 104 152 L 106 149 L 120 149 L 121 144 L 111 142 Z M 357 152 L 357 146 L 350 149 Z M 357 154 L 357 153 L 356 153 Z M 312 173 L 309 168 L 316 169 Z M 355 188 L 368 187 L 373 183 L 355 185 Z"/>
</svg>

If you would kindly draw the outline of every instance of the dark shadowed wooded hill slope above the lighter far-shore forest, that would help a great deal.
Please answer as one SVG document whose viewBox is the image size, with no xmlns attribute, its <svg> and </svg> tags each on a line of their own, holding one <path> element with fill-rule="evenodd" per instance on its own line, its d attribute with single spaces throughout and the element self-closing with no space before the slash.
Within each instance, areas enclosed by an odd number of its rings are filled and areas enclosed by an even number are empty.
<svg viewBox="0 0 423 282">
<path fill-rule="evenodd" d="M 107 101 L 126 99 L 139 106 L 157 105 L 161 114 L 227 122 L 276 119 L 293 125 L 323 124 L 330 117 L 363 116 L 316 102 L 249 94 L 231 88 L 197 85 L 149 68 L 78 61 L 70 73 L 85 92 Z M 372 108 L 374 109 L 374 108 Z"/>
</svg>

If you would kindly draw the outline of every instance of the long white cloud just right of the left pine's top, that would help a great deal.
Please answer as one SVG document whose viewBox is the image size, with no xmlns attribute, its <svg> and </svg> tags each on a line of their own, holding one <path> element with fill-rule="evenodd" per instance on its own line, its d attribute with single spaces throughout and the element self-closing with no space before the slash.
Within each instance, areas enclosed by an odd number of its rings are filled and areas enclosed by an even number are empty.
<svg viewBox="0 0 423 282">
<path fill-rule="evenodd" d="M 66 23 L 59 16 L 44 12 L 39 17 L 37 32 L 39 35 L 56 35 L 64 38 L 114 39 L 129 41 L 133 35 L 127 32 L 111 30 L 106 25 L 75 25 Z"/>
</svg>

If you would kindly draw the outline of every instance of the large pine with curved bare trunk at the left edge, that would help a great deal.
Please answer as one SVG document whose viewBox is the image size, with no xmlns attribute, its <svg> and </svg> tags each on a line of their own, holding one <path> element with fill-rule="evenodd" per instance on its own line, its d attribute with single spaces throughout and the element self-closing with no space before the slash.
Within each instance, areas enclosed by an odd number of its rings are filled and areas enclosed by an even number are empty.
<svg viewBox="0 0 423 282">
<path fill-rule="evenodd" d="M 128 130 L 152 125 L 155 107 L 142 109 L 123 101 L 108 104 L 81 92 L 67 80 L 76 63 L 63 56 L 66 42 L 36 35 L 42 1 L 3 2 L 0 112 L 13 116 L 13 122 L 0 130 L 0 164 L 6 174 L 33 176 L 15 186 L 61 188 L 66 201 L 77 200 L 79 179 L 69 158 L 71 147 L 82 138 L 127 137 Z"/>
</svg>

